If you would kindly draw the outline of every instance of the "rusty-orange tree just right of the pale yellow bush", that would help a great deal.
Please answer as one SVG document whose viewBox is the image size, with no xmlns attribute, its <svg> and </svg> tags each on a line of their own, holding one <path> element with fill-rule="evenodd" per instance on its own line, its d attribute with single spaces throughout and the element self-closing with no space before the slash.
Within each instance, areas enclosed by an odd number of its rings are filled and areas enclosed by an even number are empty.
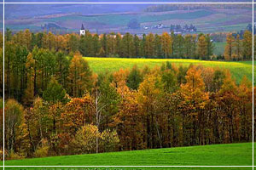
<svg viewBox="0 0 256 170">
<path fill-rule="evenodd" d="M 146 133 L 143 125 L 143 112 L 137 101 L 137 93 L 131 92 L 126 86 L 119 90 L 121 102 L 119 112 L 113 117 L 113 127 L 119 134 L 122 150 L 145 149 L 144 141 Z"/>
</svg>

